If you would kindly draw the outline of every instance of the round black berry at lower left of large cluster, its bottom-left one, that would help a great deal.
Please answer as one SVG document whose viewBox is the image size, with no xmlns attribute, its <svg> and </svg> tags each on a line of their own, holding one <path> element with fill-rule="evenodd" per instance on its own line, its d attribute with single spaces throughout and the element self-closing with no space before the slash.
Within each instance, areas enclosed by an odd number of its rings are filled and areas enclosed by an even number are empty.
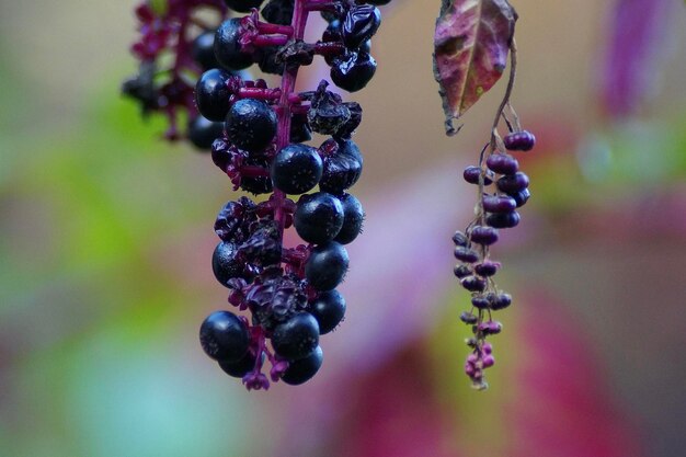
<svg viewBox="0 0 686 457">
<path fill-rule="evenodd" d="M 250 346 L 248 327 L 235 313 L 215 311 L 201 325 L 201 345 L 215 361 L 238 362 Z"/>
</svg>

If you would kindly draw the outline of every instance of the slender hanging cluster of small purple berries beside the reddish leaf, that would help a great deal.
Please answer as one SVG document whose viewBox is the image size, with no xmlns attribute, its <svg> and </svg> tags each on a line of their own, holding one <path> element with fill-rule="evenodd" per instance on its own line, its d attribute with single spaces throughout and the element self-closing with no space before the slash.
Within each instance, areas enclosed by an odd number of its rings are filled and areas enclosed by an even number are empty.
<svg viewBox="0 0 686 457">
<path fill-rule="evenodd" d="M 490 248 L 498 242 L 501 229 L 519 224 L 517 209 L 530 197 L 528 176 L 519 171 L 517 159 L 505 151 L 529 151 L 536 144 L 534 135 L 522 129 L 519 118 L 510 104 L 516 68 L 514 41 L 511 53 L 510 83 L 493 123 L 491 140 L 481 151 L 479 164 L 467 167 L 462 173 L 465 181 L 478 186 L 477 215 L 464 231 L 456 231 L 453 236 L 455 258 L 459 261 L 454 273 L 460 285 L 471 293 L 471 309 L 462 312 L 460 320 L 471 325 L 473 333 L 467 340 L 471 352 L 465 373 L 477 389 L 488 388 L 483 372 L 495 363 L 493 347 L 485 341 L 502 331 L 501 322 L 493 320 L 493 311 L 512 304 L 512 296 L 500 290 L 494 282 L 501 263 L 491 260 Z M 498 133 L 501 118 L 508 129 L 504 138 Z"/>
</svg>

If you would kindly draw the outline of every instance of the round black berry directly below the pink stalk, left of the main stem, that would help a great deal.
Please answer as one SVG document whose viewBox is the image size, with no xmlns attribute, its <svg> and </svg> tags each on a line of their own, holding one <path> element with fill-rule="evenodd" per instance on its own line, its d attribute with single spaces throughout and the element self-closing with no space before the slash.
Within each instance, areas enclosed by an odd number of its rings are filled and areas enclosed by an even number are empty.
<svg viewBox="0 0 686 457">
<path fill-rule="evenodd" d="M 276 135 L 276 113 L 262 100 L 239 100 L 231 105 L 225 128 L 229 141 L 239 149 L 259 152 Z"/>
</svg>

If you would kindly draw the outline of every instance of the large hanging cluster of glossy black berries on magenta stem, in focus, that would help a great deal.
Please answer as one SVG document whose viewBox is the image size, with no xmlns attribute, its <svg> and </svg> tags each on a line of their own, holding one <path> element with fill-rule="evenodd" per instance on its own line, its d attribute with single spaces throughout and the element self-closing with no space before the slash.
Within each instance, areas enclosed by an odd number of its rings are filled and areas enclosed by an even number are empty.
<svg viewBox="0 0 686 457">
<path fill-rule="evenodd" d="M 268 359 L 272 381 L 299 385 L 319 370 L 319 336 L 343 320 L 345 300 L 335 290 L 348 255 L 344 244 L 362 231 L 364 210 L 348 193 L 359 179 L 363 157 L 352 140 L 362 107 L 328 90 L 295 92 L 299 67 L 323 56 L 331 80 L 354 92 L 374 76 L 369 38 L 380 24 L 374 4 L 353 0 L 226 0 L 243 18 L 224 21 L 211 36 L 215 68 L 195 87 L 199 114 L 221 126 L 211 144 L 214 163 L 241 197 L 219 212 L 215 231 L 220 242 L 213 271 L 229 288 L 229 302 L 250 319 L 221 310 L 201 327 L 207 355 L 250 389 L 267 389 L 262 373 Z M 388 1 L 376 1 L 376 4 Z M 322 39 L 304 41 L 308 14 L 329 21 Z M 209 45 L 207 45 L 209 47 Z M 247 80 L 238 71 L 256 64 L 281 75 L 281 85 Z M 306 142 L 311 133 L 329 136 L 319 147 Z M 297 201 L 288 196 L 299 196 Z M 284 245 L 294 227 L 306 243 Z M 271 347 L 267 346 L 270 343 Z"/>
</svg>

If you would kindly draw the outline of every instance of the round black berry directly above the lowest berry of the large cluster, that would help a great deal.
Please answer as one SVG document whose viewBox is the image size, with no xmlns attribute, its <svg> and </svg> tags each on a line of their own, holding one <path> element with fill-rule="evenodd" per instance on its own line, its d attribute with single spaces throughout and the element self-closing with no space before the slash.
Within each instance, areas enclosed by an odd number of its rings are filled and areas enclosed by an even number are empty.
<svg viewBox="0 0 686 457">
<path fill-rule="evenodd" d="M 298 312 L 286 322 L 276 325 L 272 333 L 272 346 L 284 358 L 305 358 L 319 345 L 319 324 L 309 312 Z"/>
</svg>

